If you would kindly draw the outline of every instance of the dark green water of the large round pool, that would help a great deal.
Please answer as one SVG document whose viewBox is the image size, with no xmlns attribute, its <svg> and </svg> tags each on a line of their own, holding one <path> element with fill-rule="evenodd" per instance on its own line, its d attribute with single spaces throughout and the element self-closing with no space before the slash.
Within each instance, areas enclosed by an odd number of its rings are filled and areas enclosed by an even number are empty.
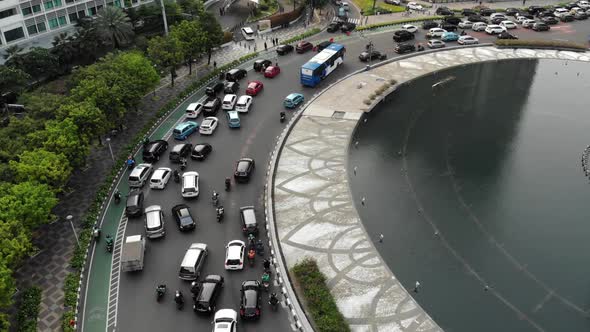
<svg viewBox="0 0 590 332">
<path fill-rule="evenodd" d="M 361 121 L 357 209 L 445 331 L 590 331 L 589 104 L 588 63 L 510 60 L 418 79 Z"/>
</svg>

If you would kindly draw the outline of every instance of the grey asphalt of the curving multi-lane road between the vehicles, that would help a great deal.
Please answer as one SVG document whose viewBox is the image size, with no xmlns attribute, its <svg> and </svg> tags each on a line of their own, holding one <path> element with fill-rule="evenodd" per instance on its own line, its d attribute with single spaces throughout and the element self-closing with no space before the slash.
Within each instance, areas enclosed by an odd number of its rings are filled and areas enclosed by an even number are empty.
<svg viewBox="0 0 590 332">
<path fill-rule="evenodd" d="M 567 39 L 585 41 L 590 30 L 587 22 L 573 22 L 553 27 L 550 32 L 537 33 L 530 30 L 518 29 L 513 31 L 521 37 L 534 35 L 539 38 Z M 573 27 L 578 28 L 578 31 Z M 581 27 L 581 28 L 579 28 Z M 424 41 L 424 31 L 420 29 L 417 41 Z M 326 39 L 327 33 L 320 37 Z M 493 40 L 493 37 L 483 33 L 473 33 L 481 42 Z M 394 43 L 392 33 L 371 35 L 370 39 L 376 49 L 385 51 L 388 57 L 393 53 Z M 201 176 L 200 196 L 195 200 L 183 199 L 180 195 L 180 185 L 170 180 L 167 188 L 162 191 L 144 187 L 145 207 L 153 204 L 161 205 L 166 217 L 166 236 L 163 239 L 148 240 L 145 256 L 145 268 L 139 273 L 123 273 L 121 275 L 118 303 L 118 331 L 206 331 L 211 329 L 211 319 L 196 316 L 191 305 L 178 311 L 172 300 L 175 289 L 181 289 L 187 303 L 190 303 L 189 283 L 178 278 L 178 269 L 182 257 L 193 242 L 203 242 L 209 246 L 209 256 L 205 263 L 202 276 L 207 274 L 221 274 L 225 277 L 225 288 L 221 293 L 217 309 L 239 309 L 239 288 L 244 280 L 260 279 L 262 273 L 262 259 L 257 256 L 255 268 L 245 266 L 243 271 L 226 272 L 223 268 L 225 245 L 234 239 L 245 240 L 240 228 L 239 207 L 255 205 L 259 222 L 263 220 L 262 195 L 264 175 L 269 155 L 274 148 L 276 137 L 284 124 L 279 122 L 279 112 L 283 110 L 282 100 L 291 92 L 301 92 L 306 100 L 319 92 L 330 83 L 344 75 L 364 67 L 357 56 L 364 49 L 366 40 L 359 38 L 345 41 L 347 59 L 341 68 L 331 74 L 318 88 L 302 88 L 299 84 L 299 67 L 313 56 L 311 52 L 299 55 L 290 54 L 278 57 L 282 72 L 274 79 L 265 79 L 262 75 L 250 71 L 241 83 L 240 94 L 244 93 L 247 80 L 260 80 L 265 86 L 261 94 L 254 98 L 254 105 L 249 114 L 241 114 L 242 127 L 230 129 L 227 126 L 225 114 L 218 113 L 220 126 L 213 136 L 203 137 L 198 133 L 192 135 L 188 142 L 208 142 L 213 145 L 213 153 L 203 162 L 189 160 L 188 171 L 197 171 Z M 450 43 L 455 44 L 455 43 Z M 275 61 L 275 57 L 268 57 Z M 195 96 L 191 101 L 197 101 L 201 96 Z M 287 111 L 287 117 L 292 112 Z M 197 121 L 201 121 L 199 117 Z M 171 147 L 176 143 L 170 140 Z M 248 184 L 233 184 L 230 192 L 223 191 L 224 179 L 231 176 L 235 161 L 242 156 L 256 160 L 257 168 Z M 155 167 L 176 167 L 167 160 L 167 154 Z M 221 202 L 226 208 L 224 222 L 218 224 L 215 220 L 215 210 L 211 203 L 212 190 L 221 193 Z M 172 206 L 186 203 L 191 207 L 193 216 L 198 220 L 195 231 L 181 233 L 171 216 Z M 131 219 L 128 222 L 126 235 L 144 234 L 142 218 Z M 268 252 L 268 248 L 267 248 Z M 168 285 L 168 293 L 164 301 L 155 300 L 155 287 L 159 283 Z M 278 290 L 277 290 L 278 291 Z M 258 322 L 239 322 L 241 331 L 289 331 L 290 323 L 287 311 L 281 308 L 272 312 L 268 304 L 263 306 L 262 318 Z"/>
</svg>

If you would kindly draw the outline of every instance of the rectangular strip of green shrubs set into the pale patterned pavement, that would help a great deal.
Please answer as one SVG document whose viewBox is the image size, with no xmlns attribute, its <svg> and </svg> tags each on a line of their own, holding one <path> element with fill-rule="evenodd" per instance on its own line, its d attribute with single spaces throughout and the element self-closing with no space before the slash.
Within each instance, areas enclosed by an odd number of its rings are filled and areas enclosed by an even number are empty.
<svg viewBox="0 0 590 332">
<path fill-rule="evenodd" d="M 338 310 L 336 301 L 326 286 L 326 277 L 320 271 L 317 262 L 312 258 L 305 258 L 295 264 L 291 272 L 303 291 L 316 331 L 350 332 L 350 327 Z"/>
</svg>

